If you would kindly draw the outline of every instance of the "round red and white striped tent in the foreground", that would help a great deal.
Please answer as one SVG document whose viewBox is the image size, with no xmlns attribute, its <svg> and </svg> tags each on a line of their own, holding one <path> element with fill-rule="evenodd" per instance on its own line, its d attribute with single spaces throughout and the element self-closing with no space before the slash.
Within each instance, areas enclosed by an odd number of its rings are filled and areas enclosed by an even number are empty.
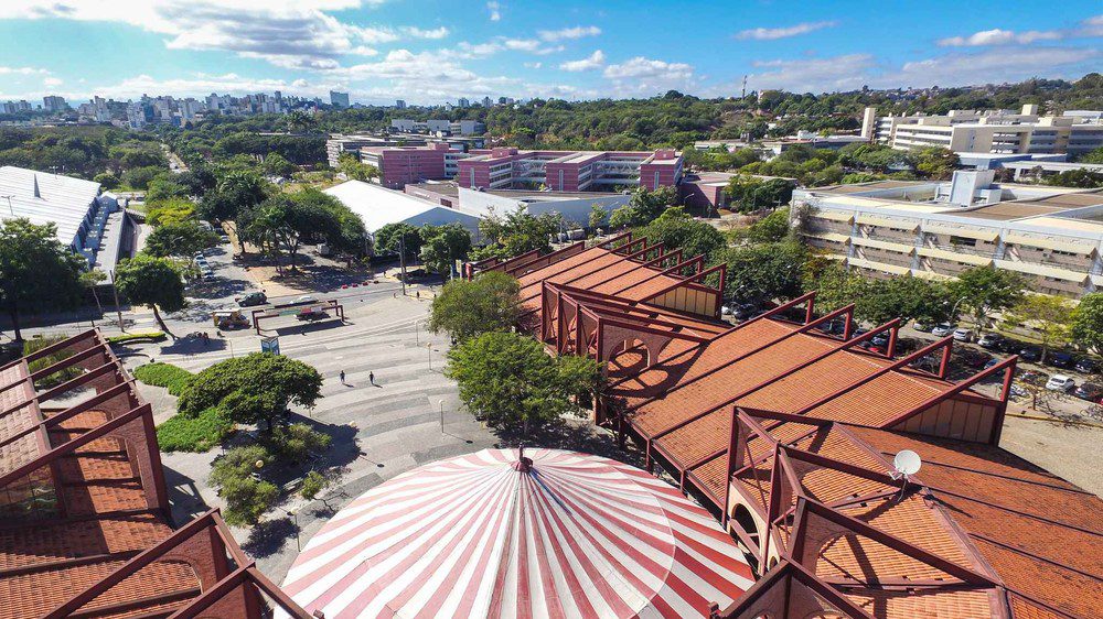
<svg viewBox="0 0 1103 619">
<path fill-rule="evenodd" d="M 752 584 L 677 489 L 607 458 L 527 449 L 432 463 L 323 526 L 283 590 L 352 617 L 708 617 Z"/>
</svg>

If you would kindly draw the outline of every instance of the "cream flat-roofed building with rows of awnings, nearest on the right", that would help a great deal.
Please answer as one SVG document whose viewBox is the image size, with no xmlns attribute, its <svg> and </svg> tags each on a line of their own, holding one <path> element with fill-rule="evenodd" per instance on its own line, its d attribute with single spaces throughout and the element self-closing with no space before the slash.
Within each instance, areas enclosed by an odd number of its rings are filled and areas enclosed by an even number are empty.
<svg viewBox="0 0 1103 619">
<path fill-rule="evenodd" d="M 972 267 L 1015 271 L 1036 292 L 1103 290 L 1103 191 L 992 183 L 878 181 L 797 189 L 807 242 L 874 278 L 945 280 Z M 800 208 L 807 206 L 807 209 Z"/>
</svg>

